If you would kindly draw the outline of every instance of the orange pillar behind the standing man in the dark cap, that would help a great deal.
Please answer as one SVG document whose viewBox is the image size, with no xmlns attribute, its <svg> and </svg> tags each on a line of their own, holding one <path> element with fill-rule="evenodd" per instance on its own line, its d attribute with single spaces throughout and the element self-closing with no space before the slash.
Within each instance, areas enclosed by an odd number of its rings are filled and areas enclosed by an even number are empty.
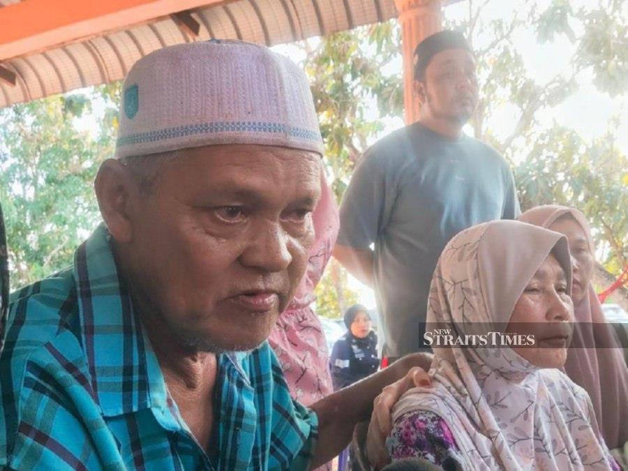
<svg viewBox="0 0 628 471">
<path fill-rule="evenodd" d="M 419 119 L 419 100 L 414 94 L 414 49 L 442 29 L 442 0 L 395 0 L 401 23 L 403 54 L 403 104 L 405 122 Z"/>
</svg>

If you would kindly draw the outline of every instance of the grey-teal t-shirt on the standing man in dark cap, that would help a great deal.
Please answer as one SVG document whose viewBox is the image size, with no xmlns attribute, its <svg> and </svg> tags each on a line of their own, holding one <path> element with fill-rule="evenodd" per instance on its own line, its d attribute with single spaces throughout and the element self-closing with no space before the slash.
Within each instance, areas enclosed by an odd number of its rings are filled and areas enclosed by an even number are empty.
<svg viewBox="0 0 628 471">
<path fill-rule="evenodd" d="M 366 151 L 341 205 L 338 244 L 375 245 L 375 294 L 389 356 L 425 350 L 428 291 L 449 239 L 519 212 L 506 160 L 473 137 L 451 139 L 415 123 Z"/>
</svg>

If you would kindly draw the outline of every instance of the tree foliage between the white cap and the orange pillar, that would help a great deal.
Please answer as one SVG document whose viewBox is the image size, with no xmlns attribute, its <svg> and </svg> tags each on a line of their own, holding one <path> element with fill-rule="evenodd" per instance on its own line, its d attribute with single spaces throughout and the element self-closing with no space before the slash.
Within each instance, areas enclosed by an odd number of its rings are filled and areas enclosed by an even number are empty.
<svg viewBox="0 0 628 471">
<path fill-rule="evenodd" d="M 402 113 L 401 76 L 382 72 L 398 54 L 399 40 L 398 27 L 387 22 L 332 34 L 314 49 L 301 43 L 338 200 L 369 138 L 384 128 L 380 118 Z M 375 119 L 368 116 L 373 107 Z"/>
</svg>

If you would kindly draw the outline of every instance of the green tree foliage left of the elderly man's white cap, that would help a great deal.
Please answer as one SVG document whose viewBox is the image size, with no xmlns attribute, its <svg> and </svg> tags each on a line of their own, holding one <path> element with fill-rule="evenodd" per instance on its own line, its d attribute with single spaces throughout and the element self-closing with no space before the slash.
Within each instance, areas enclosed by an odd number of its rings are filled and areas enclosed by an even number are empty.
<svg viewBox="0 0 628 471">
<path fill-rule="evenodd" d="M 92 136 L 76 125 L 92 115 L 99 92 L 115 87 L 0 110 L 0 200 L 13 288 L 68 266 L 100 220 L 92 182 L 112 154 L 114 128 L 103 121 Z"/>
</svg>

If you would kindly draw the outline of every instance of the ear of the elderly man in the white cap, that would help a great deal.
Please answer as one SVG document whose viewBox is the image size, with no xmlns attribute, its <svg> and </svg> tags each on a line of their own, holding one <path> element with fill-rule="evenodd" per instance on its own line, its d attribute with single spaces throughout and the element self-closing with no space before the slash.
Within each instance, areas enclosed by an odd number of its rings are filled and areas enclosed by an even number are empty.
<svg viewBox="0 0 628 471">
<path fill-rule="evenodd" d="M 128 167 L 119 160 L 105 160 L 96 174 L 94 190 L 100 214 L 109 232 L 117 242 L 130 242 L 133 239 L 131 203 L 133 195 L 137 193 L 137 184 Z"/>
</svg>

